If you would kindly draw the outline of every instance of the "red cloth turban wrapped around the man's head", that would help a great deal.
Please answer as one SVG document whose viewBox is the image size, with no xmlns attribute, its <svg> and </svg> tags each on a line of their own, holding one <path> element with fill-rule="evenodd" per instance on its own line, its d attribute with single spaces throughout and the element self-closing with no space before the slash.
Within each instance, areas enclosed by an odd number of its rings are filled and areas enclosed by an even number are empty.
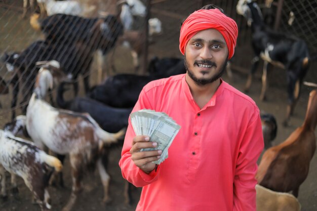
<svg viewBox="0 0 317 211">
<path fill-rule="evenodd" d="M 222 34 L 228 47 L 228 59 L 231 59 L 236 44 L 237 25 L 234 20 L 227 17 L 218 9 L 198 10 L 187 17 L 180 29 L 180 52 L 184 55 L 188 40 L 193 35 L 210 28 L 216 29 Z"/>
</svg>

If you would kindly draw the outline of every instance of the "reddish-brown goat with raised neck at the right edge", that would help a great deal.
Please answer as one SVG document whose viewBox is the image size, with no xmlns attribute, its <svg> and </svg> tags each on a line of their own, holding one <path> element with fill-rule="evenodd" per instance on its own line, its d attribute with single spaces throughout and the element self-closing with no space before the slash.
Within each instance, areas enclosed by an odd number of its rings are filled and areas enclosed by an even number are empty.
<svg viewBox="0 0 317 211">
<path fill-rule="evenodd" d="M 298 196 L 299 186 L 308 175 L 309 163 L 316 148 L 316 112 L 317 90 L 313 90 L 309 94 L 302 126 L 284 142 L 264 152 L 255 176 L 258 184 L 273 191 L 292 191 L 294 196 Z"/>
</svg>

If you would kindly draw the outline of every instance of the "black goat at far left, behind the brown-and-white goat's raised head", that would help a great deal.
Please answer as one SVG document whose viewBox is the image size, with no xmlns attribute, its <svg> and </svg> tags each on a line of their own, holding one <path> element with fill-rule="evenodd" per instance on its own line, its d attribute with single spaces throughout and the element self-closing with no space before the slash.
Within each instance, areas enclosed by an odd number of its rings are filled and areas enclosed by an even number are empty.
<svg viewBox="0 0 317 211">
<path fill-rule="evenodd" d="M 89 66 L 92 62 L 92 54 L 87 54 L 85 57 L 83 51 L 84 49 L 79 49 L 75 46 L 54 46 L 47 43 L 47 41 L 38 40 L 20 54 L 5 54 L 2 57 L 3 62 L 5 62 L 7 66 L 11 66 L 17 70 L 12 78 L 15 84 L 13 84 L 11 108 L 14 108 L 17 105 L 18 93 L 21 89 L 23 97 L 20 104 L 22 105 L 22 112 L 25 114 L 27 102 L 32 94 L 36 74 L 39 70 L 39 66 L 36 65 L 36 62 L 56 60 L 66 74 L 71 78 L 76 79 L 79 73 L 86 73 L 86 70 L 88 69 L 85 68 L 85 65 L 88 64 Z M 13 83 L 13 81 L 11 81 L 11 83 Z M 84 77 L 84 81 L 85 84 L 88 84 L 89 78 Z M 77 93 L 77 84 L 74 85 L 74 87 L 75 93 Z M 51 100 L 51 102 L 53 101 Z M 14 117 L 15 111 L 13 110 L 12 120 Z"/>
</svg>

